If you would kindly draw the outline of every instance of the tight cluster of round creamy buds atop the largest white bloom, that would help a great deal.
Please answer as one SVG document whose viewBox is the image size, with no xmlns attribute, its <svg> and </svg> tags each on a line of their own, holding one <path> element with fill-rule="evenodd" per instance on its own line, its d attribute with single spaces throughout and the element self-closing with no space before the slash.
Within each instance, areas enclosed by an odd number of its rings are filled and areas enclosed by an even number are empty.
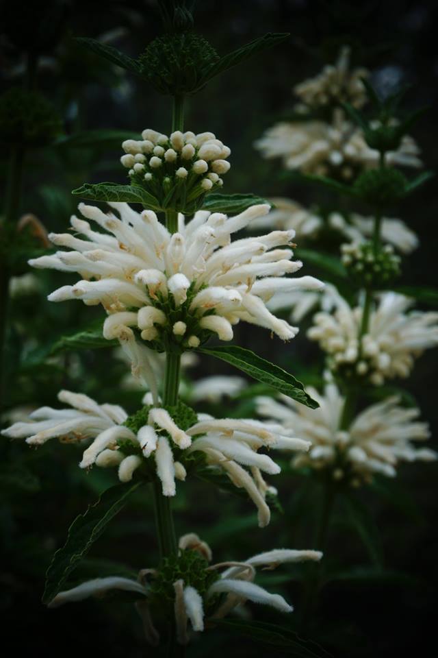
<svg viewBox="0 0 438 658">
<path fill-rule="evenodd" d="M 127 139 L 120 158 L 131 183 L 155 197 L 157 207 L 192 214 L 204 195 L 223 184 L 231 151 L 212 132 L 172 132 L 170 137 L 146 129 L 142 140 Z"/>
</svg>

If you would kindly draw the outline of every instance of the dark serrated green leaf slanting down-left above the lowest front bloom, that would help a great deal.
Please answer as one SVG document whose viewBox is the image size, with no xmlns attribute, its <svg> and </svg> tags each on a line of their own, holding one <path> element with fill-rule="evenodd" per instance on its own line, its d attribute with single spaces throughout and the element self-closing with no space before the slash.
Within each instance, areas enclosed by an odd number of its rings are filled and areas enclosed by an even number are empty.
<svg viewBox="0 0 438 658">
<path fill-rule="evenodd" d="M 47 570 L 46 586 L 42 602 L 49 603 L 62 589 L 66 579 L 88 553 L 92 544 L 98 539 L 107 524 L 125 506 L 127 498 L 136 491 L 142 481 L 116 485 L 102 493 L 99 500 L 90 505 L 84 514 L 80 514 L 68 530 L 66 543 L 55 552 Z"/>
</svg>

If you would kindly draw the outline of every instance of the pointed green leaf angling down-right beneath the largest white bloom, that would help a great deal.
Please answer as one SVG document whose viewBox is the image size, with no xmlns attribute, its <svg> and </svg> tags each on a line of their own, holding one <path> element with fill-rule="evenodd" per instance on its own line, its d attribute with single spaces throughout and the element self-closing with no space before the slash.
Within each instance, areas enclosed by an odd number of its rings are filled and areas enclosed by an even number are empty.
<svg viewBox="0 0 438 658">
<path fill-rule="evenodd" d="M 283 370 L 279 365 L 266 361 L 265 358 L 254 354 L 250 350 L 240 348 L 237 345 L 224 345 L 216 348 L 200 348 L 197 351 L 226 361 L 250 377 L 263 384 L 268 384 L 276 391 L 288 395 L 289 398 L 293 398 L 297 402 L 311 407 L 311 409 L 317 409 L 319 406 L 318 402 L 306 393 L 304 386 L 298 379 Z"/>
</svg>

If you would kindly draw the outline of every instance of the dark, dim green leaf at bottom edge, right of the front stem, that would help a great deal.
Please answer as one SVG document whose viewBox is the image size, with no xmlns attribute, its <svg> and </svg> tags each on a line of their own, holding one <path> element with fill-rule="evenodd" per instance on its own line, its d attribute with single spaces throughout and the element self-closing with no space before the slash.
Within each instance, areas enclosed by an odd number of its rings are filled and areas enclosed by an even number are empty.
<svg viewBox="0 0 438 658">
<path fill-rule="evenodd" d="M 211 621 L 219 626 L 225 626 L 227 632 L 246 635 L 258 644 L 281 647 L 282 654 L 286 653 L 289 656 L 296 656 L 296 658 L 328 658 L 331 656 L 319 644 L 302 639 L 294 631 L 276 624 L 241 619 L 215 619 Z"/>
</svg>

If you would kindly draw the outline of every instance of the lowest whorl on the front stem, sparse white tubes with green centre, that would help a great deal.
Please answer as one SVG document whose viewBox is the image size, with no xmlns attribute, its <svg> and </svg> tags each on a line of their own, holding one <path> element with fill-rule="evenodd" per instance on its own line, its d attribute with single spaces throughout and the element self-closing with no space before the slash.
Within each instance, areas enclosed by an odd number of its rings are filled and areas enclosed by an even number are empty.
<svg viewBox="0 0 438 658">
<path fill-rule="evenodd" d="M 209 565 L 211 549 L 198 535 L 189 533 L 179 539 L 179 552 L 165 558 L 157 569 L 143 569 L 138 580 L 110 576 L 81 583 L 60 592 L 49 603 L 55 608 L 90 596 L 104 596 L 123 590 L 132 592 L 140 614 L 146 640 L 157 646 L 159 631 L 155 618 L 174 616 L 177 642 L 188 644 L 192 631 L 204 631 L 246 601 L 268 605 L 282 613 L 293 608 L 280 594 L 271 594 L 255 581 L 257 567 L 272 570 L 281 564 L 319 561 L 318 550 L 281 548 L 260 553 L 243 562 L 220 562 Z"/>
</svg>

